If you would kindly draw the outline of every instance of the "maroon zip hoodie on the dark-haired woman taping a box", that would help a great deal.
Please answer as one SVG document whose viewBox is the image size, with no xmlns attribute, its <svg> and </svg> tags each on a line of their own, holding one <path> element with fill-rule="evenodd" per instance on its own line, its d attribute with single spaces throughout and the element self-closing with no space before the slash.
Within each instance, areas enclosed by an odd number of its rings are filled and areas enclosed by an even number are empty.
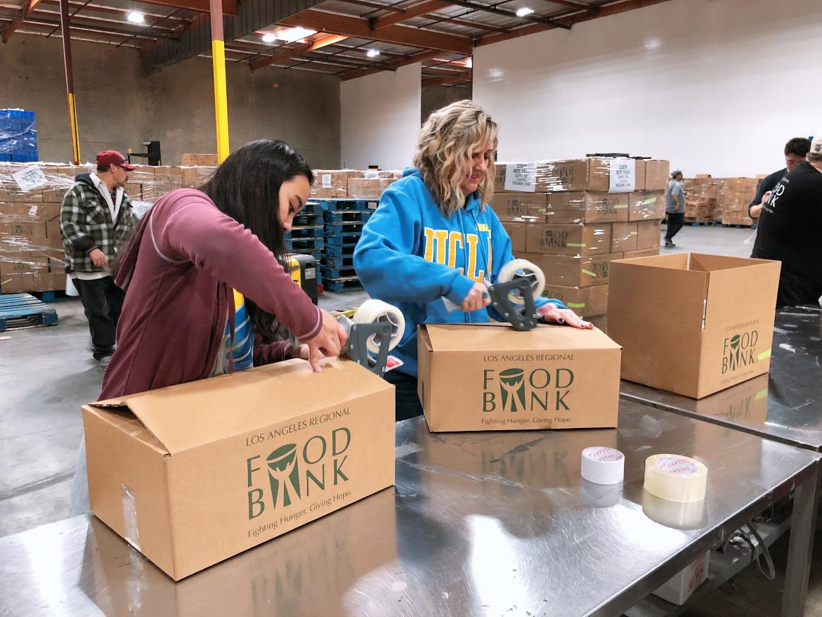
<svg viewBox="0 0 822 617">
<path fill-rule="evenodd" d="M 193 188 L 164 195 L 145 214 L 116 282 L 127 294 L 100 400 L 208 377 L 229 315 L 233 325 L 231 288 L 302 340 L 322 326 L 320 309 L 256 235 Z M 254 364 L 290 350 L 288 341 L 266 346 L 258 336 Z"/>
</svg>

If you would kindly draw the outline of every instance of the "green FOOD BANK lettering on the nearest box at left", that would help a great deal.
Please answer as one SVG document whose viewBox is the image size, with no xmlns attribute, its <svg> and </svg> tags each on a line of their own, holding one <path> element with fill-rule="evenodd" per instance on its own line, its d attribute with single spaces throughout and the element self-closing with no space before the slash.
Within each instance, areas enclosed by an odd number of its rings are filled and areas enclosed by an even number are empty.
<svg viewBox="0 0 822 617">
<path fill-rule="evenodd" d="M 265 463 L 257 455 L 246 460 L 248 520 L 267 508 L 288 508 L 293 503 L 316 496 L 326 486 L 348 482 L 344 465 L 351 445 L 351 431 L 334 429 L 316 434 L 302 445 L 286 443 L 275 448 Z"/>
</svg>

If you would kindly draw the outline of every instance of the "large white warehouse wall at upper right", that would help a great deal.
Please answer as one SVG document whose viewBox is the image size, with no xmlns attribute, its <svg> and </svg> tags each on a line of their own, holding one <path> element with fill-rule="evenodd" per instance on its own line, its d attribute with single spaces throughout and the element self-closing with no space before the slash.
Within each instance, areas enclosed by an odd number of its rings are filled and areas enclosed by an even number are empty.
<svg viewBox="0 0 822 617">
<path fill-rule="evenodd" d="M 500 160 L 627 151 L 686 175 L 770 173 L 822 130 L 822 2 L 671 0 L 475 50 Z"/>
</svg>

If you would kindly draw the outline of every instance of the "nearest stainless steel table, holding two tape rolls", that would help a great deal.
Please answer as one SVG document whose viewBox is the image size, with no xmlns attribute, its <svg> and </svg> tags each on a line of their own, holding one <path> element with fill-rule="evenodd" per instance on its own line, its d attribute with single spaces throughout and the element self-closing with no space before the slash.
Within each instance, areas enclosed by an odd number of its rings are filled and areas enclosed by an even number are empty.
<svg viewBox="0 0 822 617">
<path fill-rule="evenodd" d="M 630 401 L 619 424 L 429 434 L 406 420 L 395 488 L 178 583 L 93 517 L 7 536 L 0 615 L 621 615 L 793 489 L 783 615 L 801 615 L 820 455 Z M 626 453 L 624 484 L 580 479 L 591 445 Z M 708 466 L 693 512 L 644 493 L 660 452 Z"/>
</svg>

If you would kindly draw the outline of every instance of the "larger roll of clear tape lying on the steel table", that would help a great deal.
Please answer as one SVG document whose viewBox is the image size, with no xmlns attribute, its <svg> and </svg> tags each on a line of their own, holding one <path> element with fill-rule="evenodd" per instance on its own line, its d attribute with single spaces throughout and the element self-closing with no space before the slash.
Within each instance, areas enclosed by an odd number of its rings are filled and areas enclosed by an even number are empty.
<svg viewBox="0 0 822 617">
<path fill-rule="evenodd" d="M 678 454 L 654 454 L 645 459 L 645 489 L 668 501 L 689 502 L 705 498 L 708 467 Z"/>
</svg>

